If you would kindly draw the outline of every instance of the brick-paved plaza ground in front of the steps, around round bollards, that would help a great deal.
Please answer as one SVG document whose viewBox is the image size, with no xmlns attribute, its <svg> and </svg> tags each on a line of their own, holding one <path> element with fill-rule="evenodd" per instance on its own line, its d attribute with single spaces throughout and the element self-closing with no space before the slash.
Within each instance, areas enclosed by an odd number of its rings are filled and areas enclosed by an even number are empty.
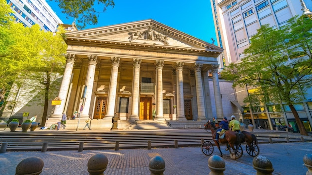
<svg viewBox="0 0 312 175">
<path fill-rule="evenodd" d="M 253 157 L 245 151 L 237 160 L 232 160 L 229 153 L 223 151 L 226 164 L 225 175 L 255 175 L 252 167 Z M 221 147 L 222 150 L 225 146 Z M 312 142 L 259 144 L 260 155 L 267 157 L 273 164 L 273 175 L 305 175 L 303 165 L 305 154 L 312 153 Z M 201 152 L 201 147 L 47 151 L 47 152 L 5 152 L 0 154 L 1 175 L 14 175 L 17 164 L 28 157 L 40 157 L 44 161 L 40 175 L 88 175 L 87 163 L 94 154 L 104 154 L 108 158 L 105 175 L 150 175 L 149 160 L 161 156 L 166 164 L 164 175 L 208 175 L 208 159 Z M 214 147 L 212 155 L 219 155 Z"/>
</svg>

